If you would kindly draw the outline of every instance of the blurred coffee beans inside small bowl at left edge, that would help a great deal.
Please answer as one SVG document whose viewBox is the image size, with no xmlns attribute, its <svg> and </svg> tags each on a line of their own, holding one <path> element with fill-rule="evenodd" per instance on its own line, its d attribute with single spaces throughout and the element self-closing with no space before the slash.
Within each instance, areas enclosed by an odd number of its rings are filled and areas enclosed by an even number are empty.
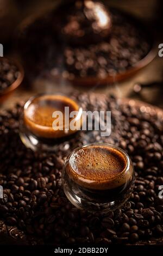
<svg viewBox="0 0 163 256">
<path fill-rule="evenodd" d="M 18 77 L 17 66 L 7 59 L 0 58 L 0 93 L 11 86 Z"/>
</svg>

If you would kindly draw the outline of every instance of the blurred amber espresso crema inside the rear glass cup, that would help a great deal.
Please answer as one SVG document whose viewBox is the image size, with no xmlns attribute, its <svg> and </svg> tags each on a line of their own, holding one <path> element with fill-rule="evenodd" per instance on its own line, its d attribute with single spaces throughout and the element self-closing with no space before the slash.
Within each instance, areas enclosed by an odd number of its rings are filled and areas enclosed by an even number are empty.
<svg viewBox="0 0 163 256">
<path fill-rule="evenodd" d="M 64 131 L 54 131 L 52 124 L 54 111 L 61 111 L 64 117 L 64 109 L 78 111 L 78 104 L 63 95 L 42 95 L 33 99 L 24 109 L 24 123 L 34 135 L 43 138 L 55 138 L 66 136 Z M 66 124 L 65 124 L 66 125 Z M 65 127 L 64 125 L 64 127 Z M 69 131 L 68 133 L 71 133 Z"/>
</svg>

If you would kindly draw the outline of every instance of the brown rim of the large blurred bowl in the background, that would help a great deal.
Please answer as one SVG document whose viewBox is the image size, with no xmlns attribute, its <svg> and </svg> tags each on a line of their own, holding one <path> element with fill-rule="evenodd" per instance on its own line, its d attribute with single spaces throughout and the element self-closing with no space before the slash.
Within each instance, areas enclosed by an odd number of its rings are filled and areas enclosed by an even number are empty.
<svg viewBox="0 0 163 256">
<path fill-rule="evenodd" d="M 138 72 L 143 67 L 145 67 L 150 62 L 152 62 L 152 60 L 155 58 L 155 56 L 157 54 L 157 47 L 156 47 L 156 43 L 154 41 L 154 35 L 153 35 L 153 32 L 151 31 L 151 29 L 148 29 L 142 20 L 137 19 L 137 17 L 127 13 L 126 11 L 116 9 L 116 8 L 110 8 L 110 11 L 111 10 L 118 11 L 118 13 L 126 16 L 127 19 L 129 21 L 131 21 L 131 23 L 133 23 L 133 25 L 135 25 L 135 27 L 140 28 L 141 31 L 143 31 L 145 33 L 146 38 L 149 41 L 149 45 L 150 45 L 149 52 L 146 54 L 145 57 L 143 57 L 141 60 L 139 60 L 139 62 L 135 63 L 133 66 L 131 66 L 127 70 L 125 70 L 121 73 L 117 72 L 117 74 L 113 75 L 113 76 L 108 74 L 104 78 L 100 78 L 98 76 L 86 76 L 86 77 L 75 76 L 73 79 L 70 79 L 68 77 L 67 78 L 62 77 L 61 74 L 54 76 L 54 75 L 50 74 L 50 71 L 48 69 L 46 69 L 46 66 L 45 66 L 44 70 L 36 71 L 36 74 L 38 72 L 37 75 L 39 75 L 39 72 L 40 72 L 41 75 L 43 77 L 45 77 L 47 80 L 55 81 L 55 82 L 65 81 L 70 84 L 73 84 L 73 86 L 81 86 L 81 87 L 85 87 L 85 86 L 93 87 L 95 85 L 104 86 L 104 85 L 112 84 L 115 82 L 120 82 L 122 80 L 125 80 L 125 79 L 131 77 L 131 76 L 135 75 L 136 72 Z M 32 17 L 28 17 L 28 19 L 24 19 L 24 21 L 21 23 L 21 25 L 17 28 L 17 34 L 20 34 L 20 35 L 23 34 L 24 30 L 26 28 L 28 28 L 30 25 L 32 25 L 32 23 L 35 22 L 37 19 L 39 19 L 40 16 L 39 17 L 32 16 Z M 114 29 L 114 27 L 112 27 L 112 29 Z M 26 43 L 26 41 L 25 41 L 25 43 Z M 41 54 L 41 52 L 40 52 L 40 54 Z M 23 56 L 22 56 L 22 59 L 23 59 Z M 55 59 L 55 56 L 54 56 L 54 59 Z M 33 60 L 29 61 L 29 63 L 27 64 L 27 60 L 26 60 L 26 56 L 25 56 L 24 57 L 24 68 L 25 69 L 26 69 L 26 65 L 29 67 L 29 70 L 31 70 L 31 65 L 33 65 Z M 28 67 L 27 67 L 27 72 L 28 72 Z"/>
</svg>

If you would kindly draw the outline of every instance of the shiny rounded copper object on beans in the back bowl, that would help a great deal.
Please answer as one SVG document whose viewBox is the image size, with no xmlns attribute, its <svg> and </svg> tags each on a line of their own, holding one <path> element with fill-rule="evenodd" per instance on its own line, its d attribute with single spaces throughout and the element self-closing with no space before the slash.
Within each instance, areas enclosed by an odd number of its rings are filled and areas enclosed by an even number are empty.
<svg viewBox="0 0 163 256">
<path fill-rule="evenodd" d="M 111 14 L 101 1 L 63 3 L 51 18 L 53 29 L 73 46 L 96 44 L 108 38 L 112 27 Z"/>
</svg>

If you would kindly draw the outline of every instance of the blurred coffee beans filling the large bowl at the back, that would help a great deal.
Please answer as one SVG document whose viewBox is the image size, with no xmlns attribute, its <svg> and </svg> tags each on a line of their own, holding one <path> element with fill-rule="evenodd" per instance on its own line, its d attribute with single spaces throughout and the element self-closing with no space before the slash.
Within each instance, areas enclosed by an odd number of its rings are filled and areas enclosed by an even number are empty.
<svg viewBox="0 0 163 256">
<path fill-rule="evenodd" d="M 73 80 L 88 76 L 103 79 L 130 69 L 151 50 L 151 39 L 139 22 L 119 11 L 111 9 L 110 12 L 112 28 L 108 38 L 99 35 L 98 42 L 84 40 L 82 45 L 60 38 L 61 28 L 57 34 L 52 26 L 58 24 L 54 22 L 54 14 L 35 21 L 23 31 L 20 40 L 27 71 L 30 75 L 50 74 Z"/>
</svg>

